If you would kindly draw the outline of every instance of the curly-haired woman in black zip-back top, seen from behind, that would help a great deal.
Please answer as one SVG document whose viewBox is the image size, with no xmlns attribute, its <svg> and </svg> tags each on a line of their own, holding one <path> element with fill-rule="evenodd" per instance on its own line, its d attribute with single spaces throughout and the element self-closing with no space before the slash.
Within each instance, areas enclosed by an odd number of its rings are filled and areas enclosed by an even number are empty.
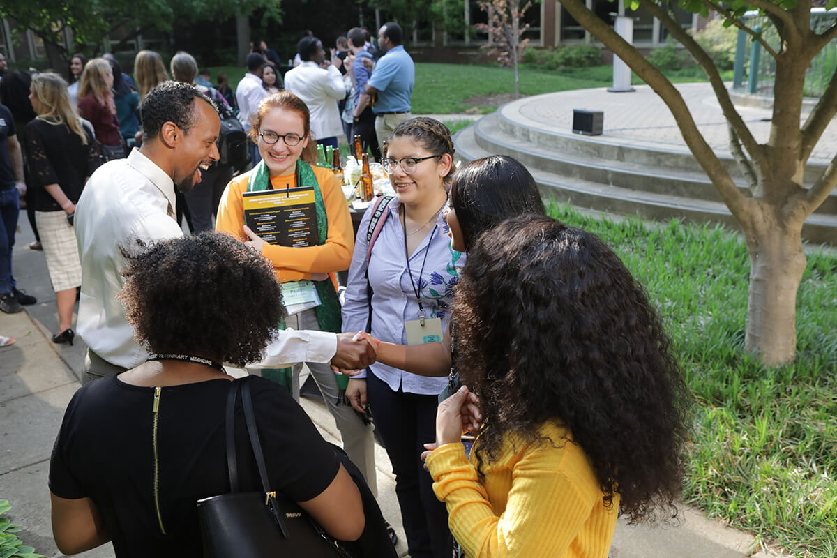
<svg viewBox="0 0 837 558">
<path fill-rule="evenodd" d="M 230 489 L 224 407 L 233 378 L 220 363 L 259 360 L 285 314 L 280 284 L 267 260 L 222 233 L 174 238 L 126 259 L 120 298 L 151 356 L 69 402 L 49 467 L 53 534 L 65 554 L 113 540 L 119 558 L 198 558 L 196 502 Z M 270 488 L 336 539 L 362 540 L 372 517 L 385 539 L 380 510 L 369 515 L 368 488 L 352 482 L 290 393 L 259 377 L 249 383 Z M 235 438 L 246 440 L 240 402 L 234 424 Z M 241 488 L 259 490 L 249 443 L 236 451 Z"/>
</svg>

